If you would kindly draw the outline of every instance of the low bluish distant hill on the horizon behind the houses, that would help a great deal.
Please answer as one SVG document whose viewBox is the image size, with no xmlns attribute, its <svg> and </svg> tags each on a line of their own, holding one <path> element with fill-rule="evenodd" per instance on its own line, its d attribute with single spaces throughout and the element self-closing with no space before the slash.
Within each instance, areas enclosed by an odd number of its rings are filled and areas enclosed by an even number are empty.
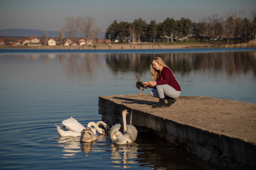
<svg viewBox="0 0 256 170">
<path fill-rule="evenodd" d="M 44 30 L 32 30 L 32 29 L 15 29 L 15 28 L 9 28 L 9 29 L 3 29 L 0 30 L 0 36 L 4 37 L 30 37 L 30 36 L 36 36 L 36 37 L 44 37 Z M 105 32 L 102 32 L 100 38 L 104 38 Z M 48 31 L 48 37 L 59 37 L 58 31 Z M 66 37 L 66 35 L 65 35 Z M 77 37 L 83 37 L 81 34 L 77 34 Z"/>
</svg>

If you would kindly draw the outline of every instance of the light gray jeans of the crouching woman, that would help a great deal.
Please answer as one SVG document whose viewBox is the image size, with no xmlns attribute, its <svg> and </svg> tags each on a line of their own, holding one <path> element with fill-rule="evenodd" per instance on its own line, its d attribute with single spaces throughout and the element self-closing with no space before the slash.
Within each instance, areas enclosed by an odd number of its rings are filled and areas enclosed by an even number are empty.
<svg viewBox="0 0 256 170">
<path fill-rule="evenodd" d="M 178 98 L 181 91 L 175 90 L 170 85 L 156 85 L 156 89 L 153 89 L 150 91 L 151 96 L 158 97 L 158 98 L 164 98 L 166 96 L 172 97 L 174 99 Z"/>
</svg>

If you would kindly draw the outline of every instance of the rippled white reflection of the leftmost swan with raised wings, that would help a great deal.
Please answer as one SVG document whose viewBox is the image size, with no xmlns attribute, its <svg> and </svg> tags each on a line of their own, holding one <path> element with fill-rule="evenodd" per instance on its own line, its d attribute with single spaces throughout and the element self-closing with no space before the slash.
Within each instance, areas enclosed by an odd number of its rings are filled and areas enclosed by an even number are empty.
<svg viewBox="0 0 256 170">
<path fill-rule="evenodd" d="M 81 146 L 79 142 L 80 137 L 65 137 L 60 136 L 57 140 L 57 143 L 59 147 L 63 147 L 62 150 L 62 158 L 70 158 L 73 157 L 76 153 L 81 151 Z"/>
</svg>

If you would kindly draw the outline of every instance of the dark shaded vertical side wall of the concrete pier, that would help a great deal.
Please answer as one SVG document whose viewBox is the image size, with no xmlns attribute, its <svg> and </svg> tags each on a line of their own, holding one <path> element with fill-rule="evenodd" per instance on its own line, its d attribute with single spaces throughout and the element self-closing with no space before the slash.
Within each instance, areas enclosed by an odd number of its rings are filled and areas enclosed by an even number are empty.
<svg viewBox="0 0 256 170">
<path fill-rule="evenodd" d="M 127 123 L 150 128 L 159 137 L 186 148 L 219 168 L 256 169 L 256 145 L 253 143 L 164 119 L 104 96 L 99 97 L 98 105 L 102 120 L 110 124 L 122 124 L 121 113 L 126 109 L 130 112 Z"/>
</svg>

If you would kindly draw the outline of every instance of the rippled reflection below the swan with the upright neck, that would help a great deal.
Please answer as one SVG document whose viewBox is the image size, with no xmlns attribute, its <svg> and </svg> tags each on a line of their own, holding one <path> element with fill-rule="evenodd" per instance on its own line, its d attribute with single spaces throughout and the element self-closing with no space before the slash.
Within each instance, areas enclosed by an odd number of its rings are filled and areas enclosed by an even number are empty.
<svg viewBox="0 0 256 170">
<path fill-rule="evenodd" d="M 132 145 L 111 144 L 110 151 L 112 156 L 110 159 L 113 159 L 112 163 L 118 164 L 113 167 L 123 167 L 124 169 L 132 168 L 130 165 L 138 163 L 135 161 L 135 159 L 138 158 L 138 145 L 136 143 Z"/>
</svg>

